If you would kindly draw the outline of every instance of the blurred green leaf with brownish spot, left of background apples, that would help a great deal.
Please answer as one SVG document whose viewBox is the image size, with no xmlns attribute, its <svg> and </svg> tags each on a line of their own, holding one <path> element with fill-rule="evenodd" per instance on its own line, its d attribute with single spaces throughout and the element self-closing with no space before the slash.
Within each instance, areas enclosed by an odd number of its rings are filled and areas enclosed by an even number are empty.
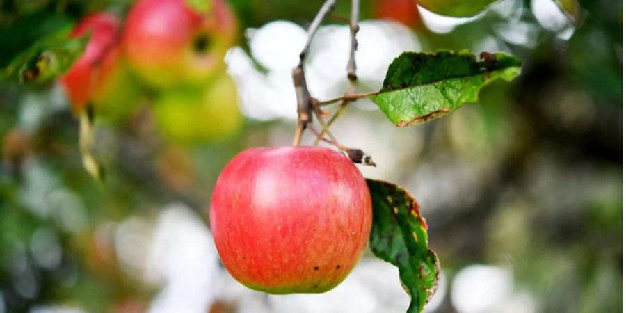
<svg viewBox="0 0 626 313">
<path fill-rule="evenodd" d="M 19 54 L 3 70 L 3 78 L 20 83 L 49 81 L 64 74 L 83 54 L 89 35 L 68 38 L 67 35 L 53 35 L 35 42 L 29 49 Z"/>
</svg>

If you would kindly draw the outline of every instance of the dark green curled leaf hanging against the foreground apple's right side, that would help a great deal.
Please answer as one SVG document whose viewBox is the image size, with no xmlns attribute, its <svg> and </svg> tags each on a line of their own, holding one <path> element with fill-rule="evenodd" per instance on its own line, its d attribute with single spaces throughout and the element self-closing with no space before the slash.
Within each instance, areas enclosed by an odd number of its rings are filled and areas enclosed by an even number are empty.
<svg viewBox="0 0 626 313">
<path fill-rule="evenodd" d="M 426 220 L 417 201 L 401 187 L 374 179 L 367 179 L 367 186 L 373 210 L 369 247 L 376 257 L 398 267 L 411 298 L 406 312 L 422 312 L 439 280 L 437 255 L 428 249 Z"/>
</svg>

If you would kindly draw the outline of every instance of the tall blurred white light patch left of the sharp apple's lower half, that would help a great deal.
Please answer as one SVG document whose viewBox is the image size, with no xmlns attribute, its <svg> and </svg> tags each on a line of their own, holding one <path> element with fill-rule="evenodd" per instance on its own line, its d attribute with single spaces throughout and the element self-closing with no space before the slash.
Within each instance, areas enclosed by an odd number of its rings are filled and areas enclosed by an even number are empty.
<svg viewBox="0 0 626 313">
<path fill-rule="evenodd" d="M 146 278 L 164 283 L 148 312 L 209 311 L 220 266 L 211 233 L 197 214 L 182 204 L 163 209 L 147 259 Z"/>
</svg>

